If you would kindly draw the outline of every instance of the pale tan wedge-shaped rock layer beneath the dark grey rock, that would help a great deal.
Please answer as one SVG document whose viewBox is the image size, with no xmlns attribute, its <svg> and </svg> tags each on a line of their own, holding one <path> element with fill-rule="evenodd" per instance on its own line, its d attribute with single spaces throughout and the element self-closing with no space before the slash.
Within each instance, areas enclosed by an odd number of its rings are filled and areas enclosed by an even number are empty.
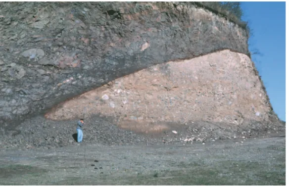
<svg viewBox="0 0 289 187">
<path fill-rule="evenodd" d="M 116 79 L 57 106 L 53 120 L 114 117 L 118 126 L 141 132 L 168 122 L 268 120 L 269 101 L 247 55 L 223 50 L 190 60 L 158 64 Z"/>
</svg>

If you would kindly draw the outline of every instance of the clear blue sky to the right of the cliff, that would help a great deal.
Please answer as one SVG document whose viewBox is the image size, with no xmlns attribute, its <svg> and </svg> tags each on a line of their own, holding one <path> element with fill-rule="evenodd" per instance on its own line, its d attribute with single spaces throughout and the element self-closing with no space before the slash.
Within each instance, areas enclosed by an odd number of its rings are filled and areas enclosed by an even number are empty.
<svg viewBox="0 0 289 187">
<path fill-rule="evenodd" d="M 262 55 L 252 60 L 265 84 L 273 110 L 286 120 L 286 4 L 285 2 L 241 2 L 242 20 L 249 21 L 253 36 L 249 50 Z"/>
</svg>

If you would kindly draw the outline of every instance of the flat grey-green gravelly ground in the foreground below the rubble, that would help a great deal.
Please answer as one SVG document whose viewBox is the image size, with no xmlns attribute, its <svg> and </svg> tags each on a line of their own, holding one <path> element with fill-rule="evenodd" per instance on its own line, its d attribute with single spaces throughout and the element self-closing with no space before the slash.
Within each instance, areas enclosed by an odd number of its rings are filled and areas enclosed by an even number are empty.
<svg viewBox="0 0 289 187">
<path fill-rule="evenodd" d="M 285 185 L 285 137 L 0 150 L 0 185 Z"/>
</svg>

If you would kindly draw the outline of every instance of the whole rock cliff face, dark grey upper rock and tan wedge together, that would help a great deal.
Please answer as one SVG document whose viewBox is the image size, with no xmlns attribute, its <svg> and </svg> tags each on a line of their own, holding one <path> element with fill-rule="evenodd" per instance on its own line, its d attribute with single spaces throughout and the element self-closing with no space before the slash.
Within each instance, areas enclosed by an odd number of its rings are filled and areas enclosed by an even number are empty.
<svg viewBox="0 0 289 187">
<path fill-rule="evenodd" d="M 3 132 L 39 114 L 138 132 L 272 121 L 245 30 L 190 2 L 3 2 L 0 25 Z"/>
</svg>

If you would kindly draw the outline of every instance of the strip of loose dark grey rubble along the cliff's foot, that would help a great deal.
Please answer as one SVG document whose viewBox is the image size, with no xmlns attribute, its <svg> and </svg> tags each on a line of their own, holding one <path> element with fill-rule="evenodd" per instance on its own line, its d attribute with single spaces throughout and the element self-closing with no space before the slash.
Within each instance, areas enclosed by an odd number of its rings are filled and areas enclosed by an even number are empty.
<svg viewBox="0 0 289 187">
<path fill-rule="evenodd" d="M 0 132 L 0 148 L 48 149 L 79 144 L 76 142 L 76 122 L 52 121 L 41 116 L 26 120 L 13 131 Z M 229 127 L 221 123 L 189 122 L 169 124 L 170 129 L 159 133 L 141 134 L 113 125 L 112 119 L 92 116 L 85 120 L 83 142 L 102 145 L 182 145 L 228 139 L 246 140 L 271 133 L 276 136 L 284 134 L 285 125 L 278 124 L 247 122 L 246 126 Z"/>
</svg>

